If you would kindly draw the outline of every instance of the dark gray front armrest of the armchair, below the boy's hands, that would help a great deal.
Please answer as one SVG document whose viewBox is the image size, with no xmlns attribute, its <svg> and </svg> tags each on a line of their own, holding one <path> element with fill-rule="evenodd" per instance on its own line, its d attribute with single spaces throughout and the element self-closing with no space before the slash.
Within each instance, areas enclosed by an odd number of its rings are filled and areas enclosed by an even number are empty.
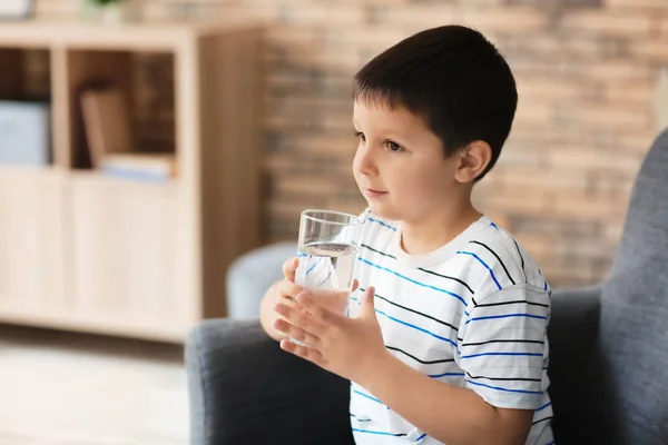
<svg viewBox="0 0 668 445">
<path fill-rule="evenodd" d="M 186 365 L 193 445 L 353 443 L 350 382 L 285 353 L 257 320 L 203 322 Z"/>
</svg>

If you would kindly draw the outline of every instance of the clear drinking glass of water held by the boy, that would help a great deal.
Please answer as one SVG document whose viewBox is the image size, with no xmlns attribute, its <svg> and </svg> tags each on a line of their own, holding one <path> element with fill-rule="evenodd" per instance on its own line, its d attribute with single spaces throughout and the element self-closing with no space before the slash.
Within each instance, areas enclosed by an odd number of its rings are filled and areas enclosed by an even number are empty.
<svg viewBox="0 0 668 445">
<path fill-rule="evenodd" d="M 341 211 L 304 210 L 299 221 L 299 266 L 295 283 L 316 297 L 338 296 L 347 312 L 362 220 Z M 343 297 L 341 297 L 343 295 Z"/>
</svg>

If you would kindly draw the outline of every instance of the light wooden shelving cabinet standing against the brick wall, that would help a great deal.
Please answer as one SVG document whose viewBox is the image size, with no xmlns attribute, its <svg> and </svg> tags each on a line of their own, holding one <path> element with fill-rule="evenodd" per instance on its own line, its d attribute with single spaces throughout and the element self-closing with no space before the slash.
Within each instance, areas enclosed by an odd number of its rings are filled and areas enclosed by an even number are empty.
<svg viewBox="0 0 668 445">
<path fill-rule="evenodd" d="M 53 165 L 0 166 L 0 320 L 180 342 L 225 316 L 225 273 L 261 244 L 262 30 L 208 24 L 0 27 L 0 99 L 26 93 L 22 59 L 48 51 Z M 132 58 L 174 68 L 178 177 L 116 178 L 80 165 L 81 86 L 130 102 Z"/>
</svg>

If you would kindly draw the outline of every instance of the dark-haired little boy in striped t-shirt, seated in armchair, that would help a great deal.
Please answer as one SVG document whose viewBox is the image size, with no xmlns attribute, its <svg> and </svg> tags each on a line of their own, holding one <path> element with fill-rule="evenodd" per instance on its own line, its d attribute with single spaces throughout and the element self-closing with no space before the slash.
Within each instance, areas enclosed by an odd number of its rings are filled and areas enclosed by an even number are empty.
<svg viewBox="0 0 668 445">
<path fill-rule="evenodd" d="M 369 208 L 350 317 L 295 285 L 291 260 L 264 329 L 351 380 L 360 445 L 553 444 L 548 284 L 471 202 L 515 112 L 505 60 L 477 31 L 430 29 L 362 68 L 354 99 Z"/>
</svg>

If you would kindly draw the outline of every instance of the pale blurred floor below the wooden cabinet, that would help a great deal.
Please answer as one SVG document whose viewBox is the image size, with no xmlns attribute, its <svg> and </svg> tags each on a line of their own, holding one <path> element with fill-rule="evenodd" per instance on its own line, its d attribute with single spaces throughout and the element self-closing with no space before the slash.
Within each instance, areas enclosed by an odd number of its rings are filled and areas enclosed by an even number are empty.
<svg viewBox="0 0 668 445">
<path fill-rule="evenodd" d="M 181 348 L 0 325 L 0 445 L 185 445 Z"/>
</svg>

